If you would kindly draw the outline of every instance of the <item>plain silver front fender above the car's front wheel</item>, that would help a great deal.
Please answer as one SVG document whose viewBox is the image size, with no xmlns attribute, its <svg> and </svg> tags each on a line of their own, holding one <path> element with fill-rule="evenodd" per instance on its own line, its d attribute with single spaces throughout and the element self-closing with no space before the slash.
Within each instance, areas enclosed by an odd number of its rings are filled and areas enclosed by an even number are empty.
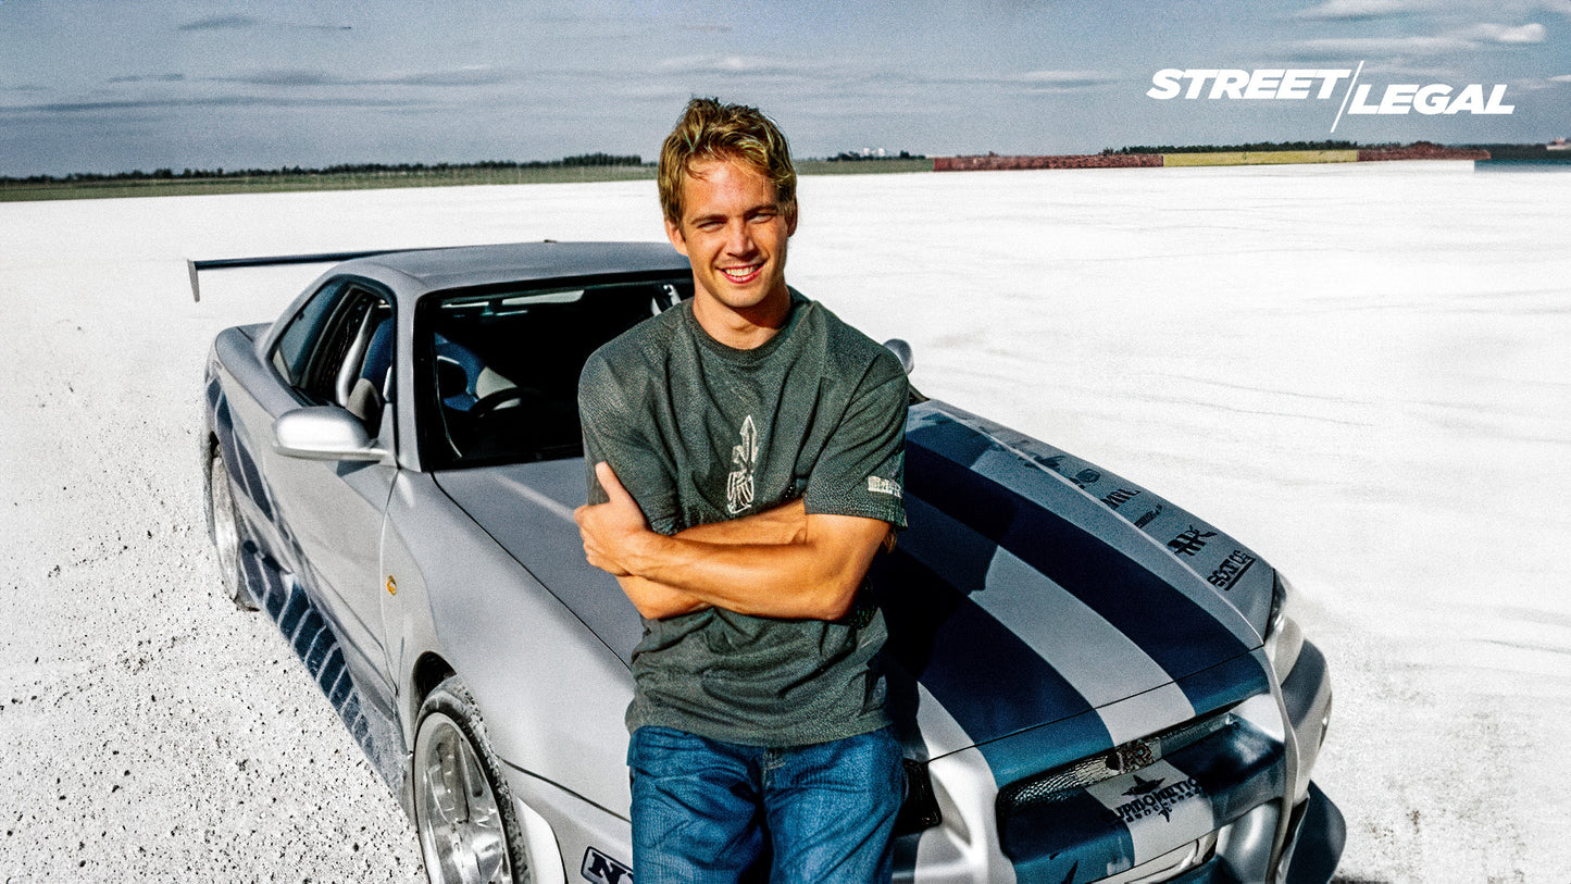
<svg viewBox="0 0 1571 884">
<path fill-rule="evenodd" d="M 401 473 L 388 502 L 383 597 L 404 736 L 415 666 L 440 655 L 512 766 L 627 815 L 627 666 L 457 507 L 429 474 Z"/>
</svg>

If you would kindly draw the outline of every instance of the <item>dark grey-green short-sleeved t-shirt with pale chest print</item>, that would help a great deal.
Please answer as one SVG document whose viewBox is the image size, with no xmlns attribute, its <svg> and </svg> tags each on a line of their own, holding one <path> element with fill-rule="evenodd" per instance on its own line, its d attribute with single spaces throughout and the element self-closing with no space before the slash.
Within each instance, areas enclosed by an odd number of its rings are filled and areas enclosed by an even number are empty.
<svg viewBox="0 0 1571 884">
<path fill-rule="evenodd" d="M 605 460 L 661 534 L 803 498 L 809 513 L 905 526 L 910 388 L 900 361 L 815 301 L 753 350 L 704 331 L 685 301 L 584 364 L 578 410 L 589 501 Z M 804 746 L 888 724 L 883 616 L 861 594 L 842 620 L 707 608 L 644 620 L 627 727 L 751 746 Z"/>
</svg>

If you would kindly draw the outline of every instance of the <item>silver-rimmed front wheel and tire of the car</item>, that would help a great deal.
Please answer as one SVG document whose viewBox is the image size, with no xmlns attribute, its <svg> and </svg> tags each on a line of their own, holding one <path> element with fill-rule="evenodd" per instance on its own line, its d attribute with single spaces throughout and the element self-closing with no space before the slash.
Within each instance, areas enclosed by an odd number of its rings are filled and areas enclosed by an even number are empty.
<svg viewBox="0 0 1571 884">
<path fill-rule="evenodd" d="M 415 831 L 432 884 L 528 884 L 529 851 L 512 793 L 457 677 L 426 697 L 415 725 Z"/>
</svg>

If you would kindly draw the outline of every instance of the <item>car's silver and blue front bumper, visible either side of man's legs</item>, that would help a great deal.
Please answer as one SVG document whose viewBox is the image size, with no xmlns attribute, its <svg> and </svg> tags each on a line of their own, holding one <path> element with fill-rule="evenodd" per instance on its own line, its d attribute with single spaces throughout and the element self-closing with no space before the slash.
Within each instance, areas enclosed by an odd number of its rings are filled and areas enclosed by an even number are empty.
<svg viewBox="0 0 1571 884">
<path fill-rule="evenodd" d="M 1331 716 L 1324 656 L 1306 642 L 1280 694 L 1262 688 L 1229 702 L 1218 713 L 1227 724 L 1192 744 L 1079 790 L 1071 801 L 1034 807 L 1024 835 L 1020 820 L 998 812 L 999 749 L 935 758 L 927 771 L 941 823 L 897 838 L 895 879 L 1327 884 L 1346 827 L 1309 779 Z M 1031 743 L 1040 747 L 1043 736 Z M 573 871 L 599 879 L 588 873 L 592 864 L 605 859 L 614 870 L 632 859 L 625 818 L 504 768 L 544 879 L 559 881 L 558 868 L 569 879 Z M 1152 787 L 1156 780 L 1166 782 Z M 1001 821 L 1016 831 L 1001 838 Z M 1004 840 L 1013 856 L 1005 856 Z"/>
</svg>

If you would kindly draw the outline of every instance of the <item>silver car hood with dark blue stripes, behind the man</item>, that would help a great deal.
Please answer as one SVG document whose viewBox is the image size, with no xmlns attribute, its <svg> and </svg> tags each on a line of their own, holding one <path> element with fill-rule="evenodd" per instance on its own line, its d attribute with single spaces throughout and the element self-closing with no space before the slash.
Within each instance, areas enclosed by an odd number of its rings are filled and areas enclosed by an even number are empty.
<svg viewBox="0 0 1571 884">
<path fill-rule="evenodd" d="M 437 480 L 630 659 L 643 623 L 616 581 L 584 562 L 572 520 L 584 502 L 581 458 Z M 932 757 L 1126 710 L 1133 697 L 1144 697 L 1142 727 L 1186 721 L 1210 705 L 1183 685 L 1262 644 L 1265 562 L 1031 437 L 943 402 L 914 405 L 905 498 L 910 528 L 872 583 L 889 625 L 891 710 Z"/>
</svg>

